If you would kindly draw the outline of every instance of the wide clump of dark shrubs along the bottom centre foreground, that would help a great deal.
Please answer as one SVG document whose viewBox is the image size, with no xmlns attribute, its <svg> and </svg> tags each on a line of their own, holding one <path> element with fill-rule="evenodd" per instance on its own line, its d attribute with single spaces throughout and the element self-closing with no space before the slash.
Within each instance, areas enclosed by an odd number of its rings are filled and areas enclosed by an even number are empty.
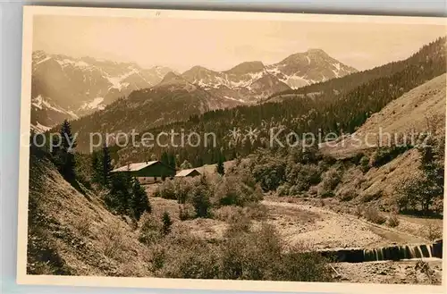
<svg viewBox="0 0 447 294">
<path fill-rule="evenodd" d="M 284 248 L 274 227 L 253 230 L 243 215 L 234 216 L 223 240 L 209 243 L 175 234 L 152 250 L 156 276 L 182 279 L 332 281 L 324 257 L 303 247 Z"/>
</svg>

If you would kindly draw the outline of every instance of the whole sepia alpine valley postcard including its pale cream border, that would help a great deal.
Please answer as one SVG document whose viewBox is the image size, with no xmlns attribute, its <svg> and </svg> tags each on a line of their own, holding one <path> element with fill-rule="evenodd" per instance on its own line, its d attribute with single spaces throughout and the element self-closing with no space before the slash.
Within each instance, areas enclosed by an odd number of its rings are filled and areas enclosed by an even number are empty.
<svg viewBox="0 0 447 294">
<path fill-rule="evenodd" d="M 18 282 L 441 293 L 446 36 L 24 7 Z"/>
</svg>

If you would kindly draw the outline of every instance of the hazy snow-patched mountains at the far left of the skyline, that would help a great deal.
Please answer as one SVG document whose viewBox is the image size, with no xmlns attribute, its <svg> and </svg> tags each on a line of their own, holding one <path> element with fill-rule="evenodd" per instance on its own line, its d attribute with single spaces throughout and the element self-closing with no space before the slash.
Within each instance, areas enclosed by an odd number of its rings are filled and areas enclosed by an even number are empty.
<svg viewBox="0 0 447 294">
<path fill-rule="evenodd" d="M 118 97 L 159 83 L 172 69 L 143 69 L 92 57 L 73 58 L 35 51 L 32 55 L 31 124 L 42 130 L 105 108 Z M 40 127 L 38 127 L 40 126 Z"/>
</svg>

